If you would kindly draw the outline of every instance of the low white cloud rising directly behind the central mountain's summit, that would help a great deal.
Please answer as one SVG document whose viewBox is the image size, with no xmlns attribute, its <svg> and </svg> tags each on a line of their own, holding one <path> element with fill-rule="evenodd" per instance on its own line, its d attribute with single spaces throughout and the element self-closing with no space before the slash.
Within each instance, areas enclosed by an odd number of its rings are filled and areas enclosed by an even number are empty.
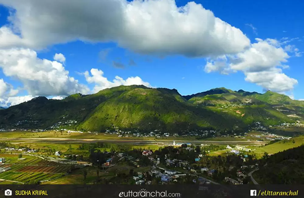
<svg viewBox="0 0 304 198">
<path fill-rule="evenodd" d="M 91 74 L 90 74 L 91 73 Z M 100 90 L 117 87 L 120 85 L 144 85 L 146 87 L 151 87 L 150 83 L 144 82 L 140 77 L 129 77 L 126 80 L 119 76 L 115 76 L 115 79 L 111 82 L 106 77 L 104 77 L 104 73 L 100 69 L 91 69 L 90 72 L 84 72 L 85 79 L 88 83 L 94 83 L 95 87 L 93 89 L 93 93 L 97 93 Z"/>
</svg>

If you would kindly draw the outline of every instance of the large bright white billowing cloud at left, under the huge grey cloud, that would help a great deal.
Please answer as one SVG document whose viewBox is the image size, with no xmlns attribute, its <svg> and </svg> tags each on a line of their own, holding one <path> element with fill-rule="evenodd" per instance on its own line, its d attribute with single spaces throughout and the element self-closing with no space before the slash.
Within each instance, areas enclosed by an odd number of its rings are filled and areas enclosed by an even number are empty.
<svg viewBox="0 0 304 198">
<path fill-rule="evenodd" d="M 30 49 L 0 49 L 0 68 L 5 76 L 12 77 L 23 84 L 29 95 L 50 96 L 88 93 L 89 89 L 78 83 L 62 63 L 40 59 Z"/>
</svg>

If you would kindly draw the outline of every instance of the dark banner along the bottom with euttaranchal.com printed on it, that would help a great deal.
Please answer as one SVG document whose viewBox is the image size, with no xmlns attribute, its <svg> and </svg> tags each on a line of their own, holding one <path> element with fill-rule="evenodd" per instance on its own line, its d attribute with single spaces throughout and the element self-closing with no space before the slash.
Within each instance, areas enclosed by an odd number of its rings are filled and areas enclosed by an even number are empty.
<svg viewBox="0 0 304 198">
<path fill-rule="evenodd" d="M 304 185 L 0 185 L 1 197 L 304 197 Z"/>
</svg>

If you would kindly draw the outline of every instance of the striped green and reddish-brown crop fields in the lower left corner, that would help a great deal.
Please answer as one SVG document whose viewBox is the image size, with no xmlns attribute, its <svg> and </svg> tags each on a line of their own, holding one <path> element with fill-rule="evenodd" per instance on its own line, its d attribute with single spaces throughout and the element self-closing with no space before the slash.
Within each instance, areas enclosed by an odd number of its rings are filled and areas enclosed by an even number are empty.
<svg viewBox="0 0 304 198">
<path fill-rule="evenodd" d="M 70 165 L 46 161 L 35 156 L 24 155 L 18 158 L 14 154 L 0 154 L 0 157 L 6 160 L 0 168 L 11 168 L 0 173 L 0 184 L 36 183 L 57 179 L 70 169 Z"/>
</svg>

